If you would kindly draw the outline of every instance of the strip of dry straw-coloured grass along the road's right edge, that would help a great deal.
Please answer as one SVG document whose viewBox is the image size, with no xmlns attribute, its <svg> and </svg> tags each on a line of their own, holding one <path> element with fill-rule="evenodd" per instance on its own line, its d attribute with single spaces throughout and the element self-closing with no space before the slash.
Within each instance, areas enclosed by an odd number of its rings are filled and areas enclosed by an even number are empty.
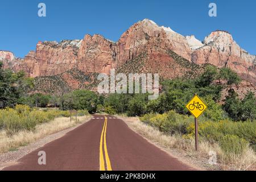
<svg viewBox="0 0 256 182">
<path fill-rule="evenodd" d="M 195 141 L 193 139 L 184 139 L 181 135 L 165 135 L 158 129 L 146 125 L 139 121 L 138 118 L 125 119 L 127 124 L 138 134 L 148 140 L 164 147 L 167 150 L 177 150 L 184 152 L 185 156 L 195 160 L 195 164 L 199 161 L 204 163 L 205 169 L 222 169 L 222 170 L 255 170 L 256 155 L 252 148 L 247 147 L 241 155 L 226 155 L 221 150 L 218 143 L 209 143 L 205 140 L 200 140 L 199 151 L 195 152 Z M 209 151 L 215 151 L 217 154 L 217 164 L 213 167 L 208 164 Z"/>
</svg>

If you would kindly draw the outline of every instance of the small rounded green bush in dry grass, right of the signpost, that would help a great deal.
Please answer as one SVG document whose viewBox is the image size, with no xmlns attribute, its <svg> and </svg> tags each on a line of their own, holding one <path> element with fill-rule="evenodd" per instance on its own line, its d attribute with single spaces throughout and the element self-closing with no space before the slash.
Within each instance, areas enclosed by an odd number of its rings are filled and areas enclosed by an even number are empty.
<svg viewBox="0 0 256 182">
<path fill-rule="evenodd" d="M 220 140 L 220 146 L 225 154 L 240 155 L 245 151 L 248 142 L 236 135 L 225 135 Z"/>
</svg>

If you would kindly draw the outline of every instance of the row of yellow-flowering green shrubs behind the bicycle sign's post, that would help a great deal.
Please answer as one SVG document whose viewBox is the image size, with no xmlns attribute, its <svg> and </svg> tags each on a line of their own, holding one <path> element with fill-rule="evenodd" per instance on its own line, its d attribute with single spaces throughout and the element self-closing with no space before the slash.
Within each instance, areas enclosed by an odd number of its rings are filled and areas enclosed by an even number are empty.
<svg viewBox="0 0 256 182">
<path fill-rule="evenodd" d="M 144 114 L 140 119 L 167 134 L 182 134 L 184 138 L 195 136 L 194 118 L 177 114 L 175 111 L 164 114 Z M 220 142 L 225 135 L 235 135 L 245 139 L 250 146 L 256 148 L 256 121 L 233 122 L 230 119 L 224 119 L 214 122 L 201 117 L 199 135 L 211 143 Z"/>
</svg>

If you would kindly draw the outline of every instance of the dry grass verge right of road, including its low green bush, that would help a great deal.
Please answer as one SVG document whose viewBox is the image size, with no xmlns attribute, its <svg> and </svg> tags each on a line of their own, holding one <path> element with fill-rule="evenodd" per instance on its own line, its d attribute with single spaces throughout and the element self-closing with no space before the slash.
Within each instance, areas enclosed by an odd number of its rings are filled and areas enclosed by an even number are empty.
<svg viewBox="0 0 256 182">
<path fill-rule="evenodd" d="M 143 137 L 170 151 L 172 155 L 196 166 L 209 170 L 255 170 L 255 151 L 247 142 L 238 137 L 226 135 L 221 142 L 209 141 L 200 135 L 199 150 L 195 151 L 195 140 L 181 134 L 168 134 L 158 127 L 138 118 L 125 118 L 127 125 Z M 239 142 L 237 142 L 239 140 Z M 222 144 L 226 146 L 222 146 Z M 223 147 L 225 149 L 223 149 Z M 242 148 L 242 149 L 241 149 Z M 217 163 L 210 164 L 209 159 L 216 154 Z M 212 162 L 212 160 L 210 160 Z"/>
</svg>

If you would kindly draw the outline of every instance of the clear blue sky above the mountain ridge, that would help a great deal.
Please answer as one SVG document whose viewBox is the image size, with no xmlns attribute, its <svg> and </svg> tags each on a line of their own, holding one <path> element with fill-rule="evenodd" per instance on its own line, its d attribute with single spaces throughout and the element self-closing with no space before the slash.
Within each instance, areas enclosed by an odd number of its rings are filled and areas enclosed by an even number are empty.
<svg viewBox="0 0 256 182">
<path fill-rule="evenodd" d="M 47 6 L 44 18 L 38 16 L 40 2 Z M 208 16 L 210 2 L 217 4 L 216 18 Z M 214 30 L 226 30 L 242 48 L 256 55 L 255 0 L 1 0 L 0 50 L 24 57 L 35 50 L 39 40 L 82 39 L 85 34 L 117 41 L 144 18 L 199 40 Z"/>
</svg>

